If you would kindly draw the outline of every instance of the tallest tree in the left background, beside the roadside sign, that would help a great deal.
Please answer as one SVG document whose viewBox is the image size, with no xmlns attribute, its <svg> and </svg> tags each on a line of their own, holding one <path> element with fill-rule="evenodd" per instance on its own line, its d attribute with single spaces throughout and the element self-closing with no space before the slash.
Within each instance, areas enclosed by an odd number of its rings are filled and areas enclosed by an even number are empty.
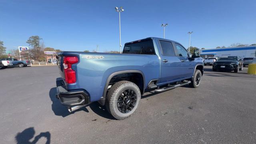
<svg viewBox="0 0 256 144">
<path fill-rule="evenodd" d="M 40 40 L 42 40 L 42 38 L 39 36 L 30 36 L 26 42 L 32 47 L 32 49 L 29 50 L 30 57 L 36 61 L 44 58 L 44 44 L 42 43 L 42 45 L 40 45 Z"/>
</svg>

